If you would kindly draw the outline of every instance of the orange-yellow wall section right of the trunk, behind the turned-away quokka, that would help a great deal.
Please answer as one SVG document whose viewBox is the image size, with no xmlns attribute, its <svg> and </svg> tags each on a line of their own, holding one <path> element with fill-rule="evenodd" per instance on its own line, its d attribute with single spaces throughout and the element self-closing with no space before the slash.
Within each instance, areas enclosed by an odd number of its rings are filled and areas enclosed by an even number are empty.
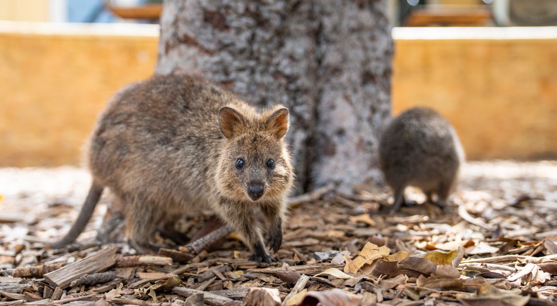
<svg viewBox="0 0 557 306">
<path fill-rule="evenodd" d="M 470 159 L 556 157 L 557 29 L 511 30 L 499 33 L 502 39 L 486 30 L 472 31 L 479 39 L 400 35 L 393 113 L 437 109 Z"/>
</svg>

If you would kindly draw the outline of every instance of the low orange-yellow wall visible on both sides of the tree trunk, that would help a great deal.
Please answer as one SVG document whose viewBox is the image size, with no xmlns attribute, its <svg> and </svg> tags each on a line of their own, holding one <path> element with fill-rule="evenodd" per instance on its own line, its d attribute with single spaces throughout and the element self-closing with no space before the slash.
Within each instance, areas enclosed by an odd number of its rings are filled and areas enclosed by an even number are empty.
<svg viewBox="0 0 557 306">
<path fill-rule="evenodd" d="M 394 113 L 437 109 L 471 159 L 555 156 L 557 39 L 439 36 L 395 35 Z M 0 166 L 79 163 L 110 96 L 152 73 L 157 40 L 153 27 L 0 23 Z"/>
</svg>

